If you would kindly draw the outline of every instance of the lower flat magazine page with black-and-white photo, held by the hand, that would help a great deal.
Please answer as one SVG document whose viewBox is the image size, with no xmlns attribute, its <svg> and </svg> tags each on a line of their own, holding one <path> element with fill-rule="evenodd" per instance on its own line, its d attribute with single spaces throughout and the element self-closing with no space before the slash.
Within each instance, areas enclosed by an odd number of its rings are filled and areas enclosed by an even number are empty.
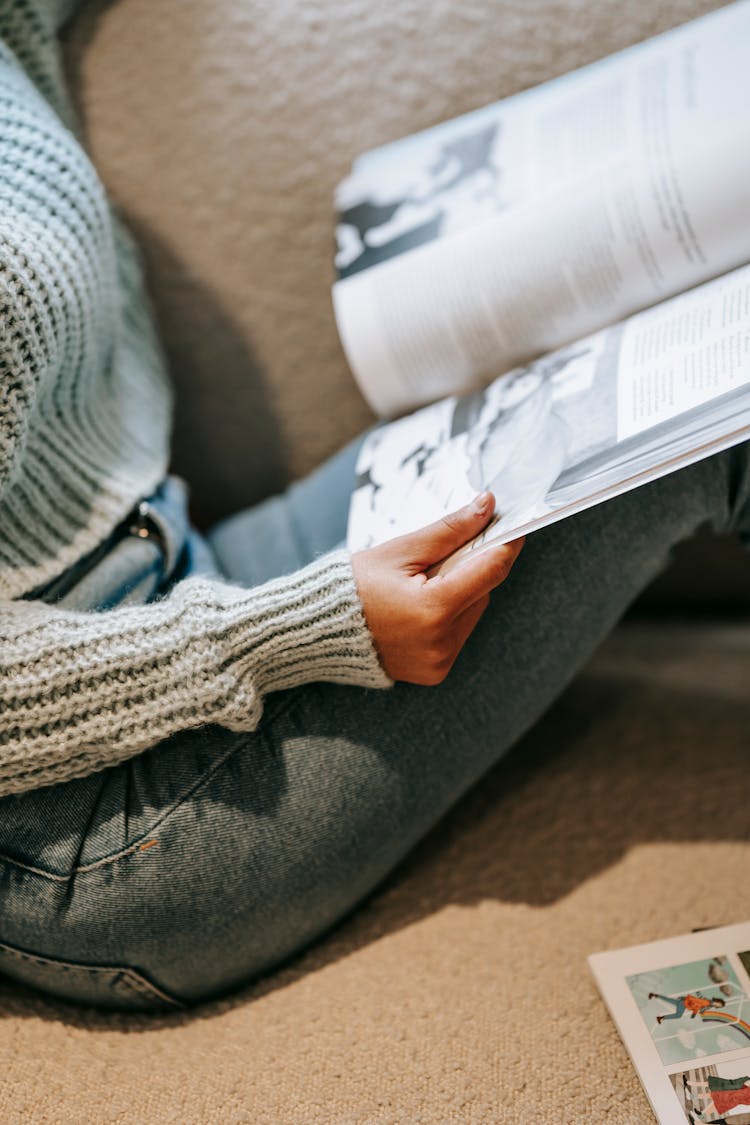
<svg viewBox="0 0 750 1125">
<path fill-rule="evenodd" d="M 352 550 L 495 493 L 450 562 L 750 436 L 750 266 L 369 435 Z"/>
</svg>

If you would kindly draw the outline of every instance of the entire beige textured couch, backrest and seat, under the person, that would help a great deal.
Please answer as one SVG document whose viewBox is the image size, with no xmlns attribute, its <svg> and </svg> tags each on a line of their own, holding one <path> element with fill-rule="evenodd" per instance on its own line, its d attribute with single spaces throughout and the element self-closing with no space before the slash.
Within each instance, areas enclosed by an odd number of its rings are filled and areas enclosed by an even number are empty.
<svg viewBox="0 0 750 1125">
<path fill-rule="evenodd" d="M 332 191 L 359 151 L 713 7 L 84 10 L 71 73 L 144 245 L 198 514 L 268 493 L 368 421 L 329 303 Z M 388 885 L 275 976 L 156 1020 L 0 983 L 0 1120 L 651 1120 L 585 957 L 750 910 L 744 561 L 710 575 L 731 616 L 621 628 Z M 684 569 L 660 604 L 694 592 Z"/>
</svg>

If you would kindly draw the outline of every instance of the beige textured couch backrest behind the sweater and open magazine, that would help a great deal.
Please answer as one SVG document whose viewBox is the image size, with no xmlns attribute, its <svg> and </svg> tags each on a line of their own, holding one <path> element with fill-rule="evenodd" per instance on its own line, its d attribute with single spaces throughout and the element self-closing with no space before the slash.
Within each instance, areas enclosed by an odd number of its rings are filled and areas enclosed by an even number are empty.
<svg viewBox="0 0 750 1125">
<path fill-rule="evenodd" d="M 354 156 L 716 7 L 85 8 L 71 64 L 97 166 L 152 269 L 178 387 L 175 461 L 201 512 L 265 494 L 369 420 L 329 294 L 333 190 Z"/>
</svg>

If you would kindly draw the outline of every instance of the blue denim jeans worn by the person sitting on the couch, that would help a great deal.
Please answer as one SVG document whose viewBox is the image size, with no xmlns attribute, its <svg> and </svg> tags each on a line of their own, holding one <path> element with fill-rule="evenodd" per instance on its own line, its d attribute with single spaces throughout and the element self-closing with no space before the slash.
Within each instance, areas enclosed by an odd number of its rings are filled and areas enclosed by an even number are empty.
<svg viewBox="0 0 750 1125">
<path fill-rule="evenodd" d="M 196 570 L 249 585 L 344 537 L 356 446 L 201 539 L 179 483 L 47 596 L 143 601 Z M 706 521 L 750 532 L 739 447 L 531 536 L 439 687 L 313 683 L 261 726 L 175 735 L 0 801 L 0 971 L 72 1000 L 173 1009 L 266 972 L 363 899 L 564 688 Z"/>
</svg>

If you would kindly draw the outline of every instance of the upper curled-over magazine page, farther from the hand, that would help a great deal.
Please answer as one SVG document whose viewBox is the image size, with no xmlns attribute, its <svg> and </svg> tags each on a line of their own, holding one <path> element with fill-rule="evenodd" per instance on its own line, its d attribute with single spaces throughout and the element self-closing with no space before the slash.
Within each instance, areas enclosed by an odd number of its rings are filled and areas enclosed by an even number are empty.
<svg viewBox="0 0 750 1125">
<path fill-rule="evenodd" d="M 750 260 L 750 2 L 368 154 L 334 307 L 395 416 Z"/>
</svg>

